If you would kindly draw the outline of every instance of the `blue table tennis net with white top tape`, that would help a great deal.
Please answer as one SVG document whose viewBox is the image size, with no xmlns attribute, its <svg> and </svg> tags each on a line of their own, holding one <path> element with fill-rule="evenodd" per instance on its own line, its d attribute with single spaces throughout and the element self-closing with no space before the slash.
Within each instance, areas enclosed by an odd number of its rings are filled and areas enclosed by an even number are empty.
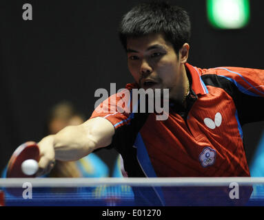
<svg viewBox="0 0 264 220">
<path fill-rule="evenodd" d="M 6 206 L 264 206 L 263 177 L 0 179 Z"/>
</svg>

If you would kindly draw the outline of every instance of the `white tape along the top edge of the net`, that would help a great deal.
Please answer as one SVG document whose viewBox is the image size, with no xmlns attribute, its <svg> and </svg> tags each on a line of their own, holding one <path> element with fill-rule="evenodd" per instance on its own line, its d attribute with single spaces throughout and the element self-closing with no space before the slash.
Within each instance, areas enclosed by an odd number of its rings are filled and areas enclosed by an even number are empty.
<svg viewBox="0 0 264 220">
<path fill-rule="evenodd" d="M 263 184 L 264 177 L 162 177 L 162 178 L 0 178 L 0 187 L 21 187 L 30 182 L 33 187 L 87 187 L 105 184 L 108 186 L 239 186 Z"/>
</svg>

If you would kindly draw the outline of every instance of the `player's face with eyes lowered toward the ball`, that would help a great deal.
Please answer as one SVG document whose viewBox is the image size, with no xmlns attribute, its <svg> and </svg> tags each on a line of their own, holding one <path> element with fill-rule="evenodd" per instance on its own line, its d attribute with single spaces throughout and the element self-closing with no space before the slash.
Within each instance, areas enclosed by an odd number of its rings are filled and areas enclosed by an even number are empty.
<svg viewBox="0 0 264 220">
<path fill-rule="evenodd" d="M 170 89 L 170 98 L 181 101 L 186 89 L 186 52 L 180 50 L 177 55 L 163 34 L 149 34 L 128 38 L 127 54 L 128 69 L 141 88 Z"/>
</svg>

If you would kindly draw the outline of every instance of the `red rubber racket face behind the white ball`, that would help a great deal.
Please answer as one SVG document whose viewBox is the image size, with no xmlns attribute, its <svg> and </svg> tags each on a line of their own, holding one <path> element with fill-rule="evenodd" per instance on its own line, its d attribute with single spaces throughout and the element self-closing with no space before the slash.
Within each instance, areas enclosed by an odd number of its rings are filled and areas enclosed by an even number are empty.
<svg viewBox="0 0 264 220">
<path fill-rule="evenodd" d="M 21 170 L 21 164 L 26 159 L 34 159 L 39 162 L 39 146 L 36 142 L 21 144 L 12 154 L 8 162 L 7 178 L 28 178 L 35 175 L 26 175 Z"/>
</svg>

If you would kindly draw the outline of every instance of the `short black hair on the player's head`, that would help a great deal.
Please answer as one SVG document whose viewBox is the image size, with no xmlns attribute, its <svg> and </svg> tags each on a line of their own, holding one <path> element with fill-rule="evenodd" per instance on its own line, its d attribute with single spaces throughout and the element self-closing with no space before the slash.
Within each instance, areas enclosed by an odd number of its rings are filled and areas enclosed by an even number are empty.
<svg viewBox="0 0 264 220">
<path fill-rule="evenodd" d="M 119 39 L 125 50 L 127 38 L 163 33 L 178 54 L 190 41 L 190 17 L 185 10 L 165 1 L 150 1 L 136 5 L 127 12 L 119 25 Z"/>
</svg>

